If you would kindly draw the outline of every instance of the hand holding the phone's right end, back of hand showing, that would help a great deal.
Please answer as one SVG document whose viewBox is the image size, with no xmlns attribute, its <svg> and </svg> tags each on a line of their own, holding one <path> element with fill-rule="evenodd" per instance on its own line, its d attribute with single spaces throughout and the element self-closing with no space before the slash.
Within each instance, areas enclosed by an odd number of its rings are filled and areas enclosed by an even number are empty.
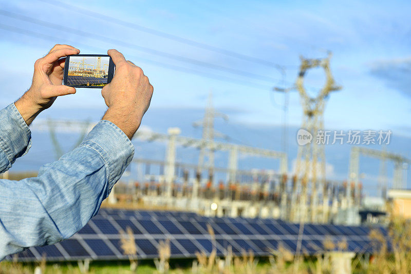
<svg viewBox="0 0 411 274">
<path fill-rule="evenodd" d="M 126 61 L 115 49 L 107 51 L 116 65 L 113 80 L 101 90 L 108 106 L 103 120 L 118 126 L 131 140 L 150 106 L 153 86 L 141 68 Z"/>
</svg>

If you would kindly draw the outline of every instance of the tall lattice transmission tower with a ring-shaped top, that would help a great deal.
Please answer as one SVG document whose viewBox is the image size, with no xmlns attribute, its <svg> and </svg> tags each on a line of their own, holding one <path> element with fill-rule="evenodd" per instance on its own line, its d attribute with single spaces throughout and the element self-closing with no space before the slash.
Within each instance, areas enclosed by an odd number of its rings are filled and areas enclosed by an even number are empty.
<svg viewBox="0 0 411 274">
<path fill-rule="evenodd" d="M 315 136 L 317 131 L 324 130 L 324 108 L 326 99 L 331 91 L 340 90 L 341 87 L 336 86 L 330 70 L 331 53 L 326 58 L 306 59 L 301 58 L 300 73 L 296 80 L 296 88 L 301 97 L 303 107 L 303 123 L 302 128 L 306 129 L 313 136 L 313 140 L 298 147 L 298 155 L 296 162 L 295 175 L 298 187 L 302 188 L 300 198 L 300 210 L 298 218 L 300 221 L 317 222 L 318 208 L 318 189 L 323 189 L 325 186 L 325 151 L 324 144 L 317 144 Z M 307 70 L 311 68 L 321 67 L 326 74 L 326 83 L 315 97 L 308 95 L 304 87 L 304 76 Z M 311 214 L 308 216 L 308 185 L 311 186 Z M 295 195 L 294 195 L 295 199 Z M 295 201 L 293 201 L 295 202 Z M 295 217 L 294 217 L 295 218 Z M 324 220 L 326 221 L 326 220 Z"/>
</svg>

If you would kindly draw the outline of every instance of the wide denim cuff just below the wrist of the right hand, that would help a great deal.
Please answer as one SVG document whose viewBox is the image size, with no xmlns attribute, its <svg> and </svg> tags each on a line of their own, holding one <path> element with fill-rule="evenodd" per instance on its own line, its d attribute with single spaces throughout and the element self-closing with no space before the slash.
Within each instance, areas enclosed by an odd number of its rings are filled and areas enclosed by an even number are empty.
<svg viewBox="0 0 411 274">
<path fill-rule="evenodd" d="M 120 179 L 134 156 L 133 143 L 115 124 L 101 120 L 86 136 L 80 146 L 96 150 L 107 166 L 109 192 Z"/>
</svg>

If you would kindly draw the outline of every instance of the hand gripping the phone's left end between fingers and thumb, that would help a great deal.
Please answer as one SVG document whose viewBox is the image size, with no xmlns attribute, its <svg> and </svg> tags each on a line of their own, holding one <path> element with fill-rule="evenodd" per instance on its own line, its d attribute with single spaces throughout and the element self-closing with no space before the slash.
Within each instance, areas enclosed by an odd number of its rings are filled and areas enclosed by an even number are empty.
<svg viewBox="0 0 411 274">
<path fill-rule="evenodd" d="M 61 57 L 79 53 L 80 50 L 72 46 L 57 44 L 34 63 L 31 87 L 14 103 L 27 125 L 49 108 L 57 96 L 76 93 L 75 88 L 62 85 L 66 58 Z"/>
</svg>

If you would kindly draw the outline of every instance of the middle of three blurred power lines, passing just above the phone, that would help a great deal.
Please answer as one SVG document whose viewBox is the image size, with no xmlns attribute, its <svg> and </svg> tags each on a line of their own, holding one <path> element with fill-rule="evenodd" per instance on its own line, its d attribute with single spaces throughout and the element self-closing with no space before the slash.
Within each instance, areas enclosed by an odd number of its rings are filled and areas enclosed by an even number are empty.
<svg viewBox="0 0 411 274">
<path fill-rule="evenodd" d="M 88 38 L 92 38 L 92 39 L 102 41 L 102 42 L 117 43 L 117 44 L 122 45 L 122 46 L 127 47 L 127 48 L 138 49 L 138 50 L 143 51 L 143 52 L 151 53 L 151 54 L 166 57 L 166 58 L 171 58 L 173 60 L 180 61 L 180 62 L 190 63 L 190 64 L 193 64 L 193 65 L 207 67 L 207 68 L 211 68 L 211 69 L 217 69 L 217 70 L 221 70 L 221 71 L 226 71 L 226 72 L 237 74 L 237 75 L 240 75 L 240 76 L 246 76 L 246 77 L 249 77 L 251 79 L 256 79 L 256 80 L 261 80 L 261 81 L 268 81 L 270 83 L 272 83 L 273 81 L 278 81 L 277 79 L 274 79 L 272 77 L 259 75 L 259 74 L 252 73 L 252 72 L 237 70 L 237 69 L 233 69 L 233 68 L 229 68 L 229 67 L 225 67 L 225 66 L 221 66 L 221 65 L 211 64 L 211 63 L 208 63 L 208 62 L 195 60 L 193 58 L 188 58 L 188 57 L 175 55 L 175 54 L 167 53 L 167 52 L 160 51 L 160 50 L 155 50 L 155 49 L 143 47 L 143 46 L 140 46 L 140 45 L 137 45 L 137 44 L 120 41 L 120 40 L 110 38 L 110 37 L 107 37 L 107 36 L 103 36 L 103 35 L 100 35 L 100 34 L 97 34 L 97 33 L 91 33 L 91 32 L 86 32 L 86 31 L 82 31 L 82 30 L 77 30 L 77 29 L 74 29 L 74 28 L 70 28 L 70 27 L 66 27 L 66 26 L 63 26 L 63 25 L 54 24 L 54 23 L 50 23 L 50 22 L 46 22 L 46 21 L 42 21 L 40 19 L 36 19 L 36 18 L 26 16 L 26 15 L 22 15 L 22 14 L 17 14 L 17 13 L 14 13 L 14 12 L 3 10 L 3 9 L 0 9 L 0 14 L 4 15 L 4 16 L 7 16 L 7 17 L 20 19 L 21 21 L 25 21 L 25 22 L 28 22 L 28 23 L 40 25 L 40 26 L 43 26 L 43 27 L 56 29 L 56 30 L 59 30 L 59 31 L 65 31 L 65 32 L 69 32 L 69 33 L 72 33 L 72 34 L 76 34 L 76 35 L 84 35 Z"/>
</svg>

